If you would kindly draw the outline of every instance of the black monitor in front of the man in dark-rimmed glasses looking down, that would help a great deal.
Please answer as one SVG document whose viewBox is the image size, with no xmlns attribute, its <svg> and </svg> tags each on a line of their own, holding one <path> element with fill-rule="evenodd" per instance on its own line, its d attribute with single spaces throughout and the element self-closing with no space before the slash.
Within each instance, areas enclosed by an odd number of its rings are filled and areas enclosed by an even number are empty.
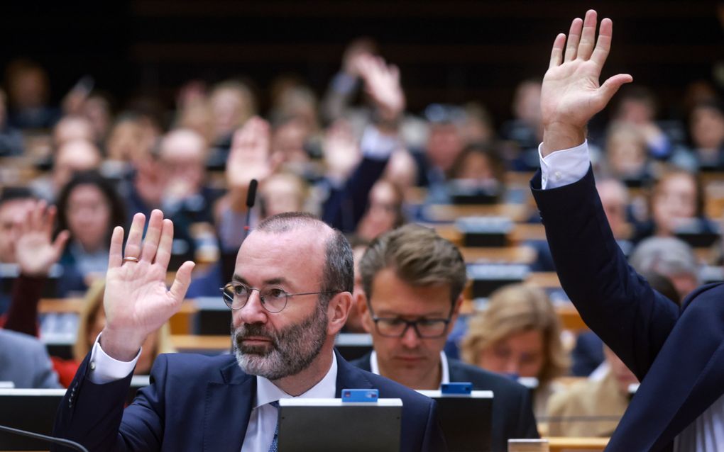
<svg viewBox="0 0 724 452">
<path fill-rule="evenodd" d="M 437 401 L 442 433 L 450 452 L 492 451 L 492 391 L 443 394 L 418 391 Z"/>
</svg>

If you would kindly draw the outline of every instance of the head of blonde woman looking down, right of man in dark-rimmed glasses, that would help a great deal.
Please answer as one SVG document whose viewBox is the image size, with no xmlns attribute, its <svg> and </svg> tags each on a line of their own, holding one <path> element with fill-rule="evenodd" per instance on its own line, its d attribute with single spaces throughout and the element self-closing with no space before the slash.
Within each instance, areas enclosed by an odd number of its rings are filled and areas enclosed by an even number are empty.
<svg viewBox="0 0 724 452">
<path fill-rule="evenodd" d="M 483 369 L 536 378 L 536 417 L 545 416 L 548 398 L 556 389 L 553 380 L 568 370 L 560 321 L 550 299 L 541 289 L 523 284 L 490 295 L 487 308 L 469 320 L 461 351 L 466 362 Z"/>
</svg>

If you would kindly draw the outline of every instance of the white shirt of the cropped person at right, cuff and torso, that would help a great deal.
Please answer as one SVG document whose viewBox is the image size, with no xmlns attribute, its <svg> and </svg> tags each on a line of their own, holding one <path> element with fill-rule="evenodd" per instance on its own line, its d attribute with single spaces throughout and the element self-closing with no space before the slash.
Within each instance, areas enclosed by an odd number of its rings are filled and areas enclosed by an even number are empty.
<svg viewBox="0 0 724 452">
<path fill-rule="evenodd" d="M 573 184 L 588 172 L 589 153 L 585 141 L 576 148 L 557 150 L 545 157 L 540 149 L 539 146 L 542 189 Z M 718 398 L 674 440 L 674 452 L 718 451 L 724 451 L 724 396 Z"/>
</svg>

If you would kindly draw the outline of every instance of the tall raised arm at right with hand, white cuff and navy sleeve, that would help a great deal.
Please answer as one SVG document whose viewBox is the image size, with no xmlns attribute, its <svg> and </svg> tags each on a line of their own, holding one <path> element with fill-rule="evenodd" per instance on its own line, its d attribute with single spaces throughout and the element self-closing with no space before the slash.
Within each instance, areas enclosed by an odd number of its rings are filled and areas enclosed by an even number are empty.
<svg viewBox="0 0 724 452">
<path fill-rule="evenodd" d="M 675 325 L 678 308 L 629 267 L 608 225 L 590 166 L 581 160 L 581 149 L 556 152 L 581 145 L 586 122 L 620 85 L 631 81 L 630 75 L 618 74 L 599 86 L 612 23 L 601 22 L 594 46 L 596 22 L 596 12 L 589 11 L 585 20 L 573 20 L 568 46 L 565 35 L 555 39 L 541 95 L 544 159 L 531 187 L 565 293 L 586 325 L 642 380 Z M 550 187 L 544 186 L 544 172 L 555 179 L 561 174 L 563 179 L 576 177 Z"/>
</svg>

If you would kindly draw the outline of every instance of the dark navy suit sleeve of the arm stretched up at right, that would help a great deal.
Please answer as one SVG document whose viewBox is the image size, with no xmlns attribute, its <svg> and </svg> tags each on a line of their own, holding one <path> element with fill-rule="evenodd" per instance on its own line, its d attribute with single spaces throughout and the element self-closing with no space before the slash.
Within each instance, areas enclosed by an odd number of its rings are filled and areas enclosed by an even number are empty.
<svg viewBox="0 0 724 452">
<path fill-rule="evenodd" d="M 531 181 L 560 283 L 581 317 L 642 380 L 668 337 L 678 308 L 626 263 L 589 171 L 583 179 L 541 189 Z"/>
</svg>

